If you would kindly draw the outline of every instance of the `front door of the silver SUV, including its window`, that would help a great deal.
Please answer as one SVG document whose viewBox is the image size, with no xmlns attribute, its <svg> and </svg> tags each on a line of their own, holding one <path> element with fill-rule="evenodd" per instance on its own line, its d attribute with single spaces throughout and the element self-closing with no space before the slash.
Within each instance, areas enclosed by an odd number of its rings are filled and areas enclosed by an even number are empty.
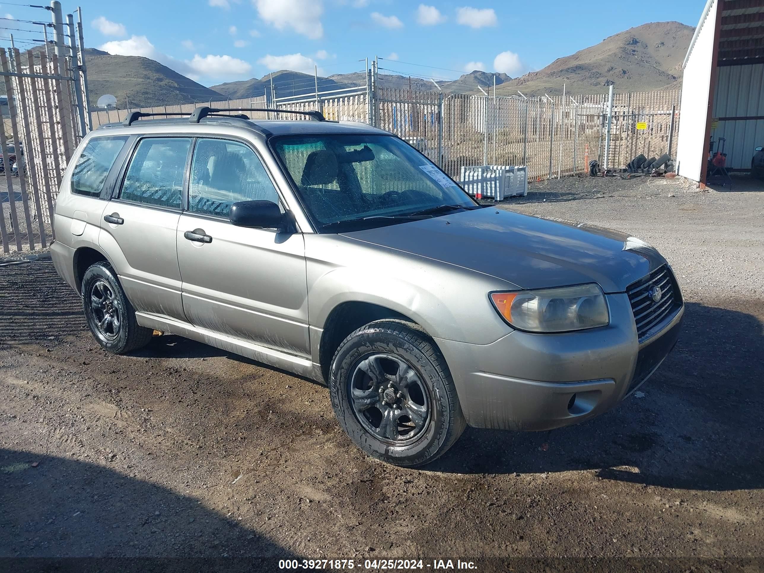
<svg viewBox="0 0 764 573">
<path fill-rule="evenodd" d="M 201 329 L 309 357 L 303 235 L 231 225 L 231 205 L 254 199 L 280 203 L 253 149 L 199 138 L 177 232 L 183 310 Z"/>
</svg>

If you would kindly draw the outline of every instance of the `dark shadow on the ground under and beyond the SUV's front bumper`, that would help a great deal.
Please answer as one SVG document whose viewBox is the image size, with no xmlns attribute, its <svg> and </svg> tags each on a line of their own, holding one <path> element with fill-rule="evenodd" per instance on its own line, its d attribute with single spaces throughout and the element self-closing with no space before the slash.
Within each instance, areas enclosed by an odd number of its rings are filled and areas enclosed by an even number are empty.
<svg viewBox="0 0 764 573">
<path fill-rule="evenodd" d="M 720 301 L 750 308 L 750 301 Z M 759 304 L 759 316 L 764 309 Z M 687 303 L 679 342 L 639 393 L 552 432 L 468 429 L 429 471 L 598 478 L 688 490 L 764 487 L 764 336 L 747 312 Z"/>
</svg>

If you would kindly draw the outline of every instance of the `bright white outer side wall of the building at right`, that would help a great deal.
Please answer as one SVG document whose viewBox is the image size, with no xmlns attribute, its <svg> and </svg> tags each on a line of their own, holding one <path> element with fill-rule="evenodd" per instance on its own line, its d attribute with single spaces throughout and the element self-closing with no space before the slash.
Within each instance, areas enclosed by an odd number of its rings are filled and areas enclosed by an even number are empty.
<svg viewBox="0 0 764 573">
<path fill-rule="evenodd" d="M 707 158 L 706 116 L 711 88 L 714 53 L 714 26 L 719 3 L 714 0 L 691 46 L 681 86 L 681 120 L 677 147 L 677 173 L 691 180 L 701 179 L 701 167 Z"/>
</svg>

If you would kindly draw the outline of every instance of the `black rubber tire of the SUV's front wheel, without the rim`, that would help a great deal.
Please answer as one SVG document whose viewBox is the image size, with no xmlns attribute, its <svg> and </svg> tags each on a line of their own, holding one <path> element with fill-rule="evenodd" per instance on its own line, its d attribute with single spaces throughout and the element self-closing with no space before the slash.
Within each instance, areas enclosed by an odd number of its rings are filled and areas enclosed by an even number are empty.
<svg viewBox="0 0 764 573">
<path fill-rule="evenodd" d="M 375 352 L 393 354 L 406 362 L 427 387 L 431 413 L 413 443 L 390 445 L 377 439 L 364 429 L 351 406 L 348 384 L 355 367 Z M 332 359 L 329 391 L 337 419 L 354 444 L 393 465 L 416 468 L 429 464 L 451 448 L 467 426 L 445 358 L 424 329 L 412 322 L 381 319 L 351 332 Z"/>
</svg>

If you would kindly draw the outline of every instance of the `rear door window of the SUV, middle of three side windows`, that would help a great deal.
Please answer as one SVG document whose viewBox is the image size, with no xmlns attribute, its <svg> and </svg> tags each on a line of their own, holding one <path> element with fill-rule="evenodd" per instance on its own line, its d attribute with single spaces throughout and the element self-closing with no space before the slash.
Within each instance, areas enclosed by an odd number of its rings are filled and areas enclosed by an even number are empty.
<svg viewBox="0 0 764 573">
<path fill-rule="evenodd" d="M 146 138 L 138 144 L 121 199 L 180 209 L 190 138 Z"/>
</svg>

